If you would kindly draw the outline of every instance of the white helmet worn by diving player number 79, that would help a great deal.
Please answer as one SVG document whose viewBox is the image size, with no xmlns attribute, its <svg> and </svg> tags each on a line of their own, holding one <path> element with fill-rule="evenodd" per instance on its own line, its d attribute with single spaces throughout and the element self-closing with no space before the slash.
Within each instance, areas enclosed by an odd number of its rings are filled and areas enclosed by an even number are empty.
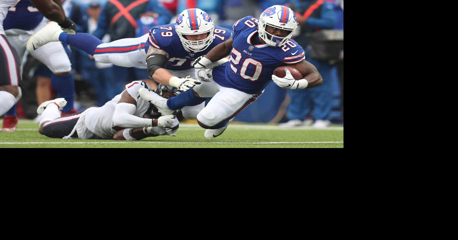
<svg viewBox="0 0 458 240">
<path fill-rule="evenodd" d="M 189 8 L 182 11 L 175 22 L 175 31 L 178 33 L 183 47 L 195 52 L 201 52 L 210 46 L 213 42 L 214 29 L 215 25 L 210 15 L 198 8 Z M 208 35 L 205 39 L 199 41 L 191 41 L 184 36 L 202 33 L 208 33 Z"/>
</svg>

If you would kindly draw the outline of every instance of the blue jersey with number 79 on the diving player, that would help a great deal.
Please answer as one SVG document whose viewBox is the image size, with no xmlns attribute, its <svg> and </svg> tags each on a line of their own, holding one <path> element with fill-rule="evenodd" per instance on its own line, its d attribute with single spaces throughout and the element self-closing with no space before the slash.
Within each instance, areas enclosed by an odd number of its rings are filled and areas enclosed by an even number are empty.
<svg viewBox="0 0 458 240">
<path fill-rule="evenodd" d="M 178 37 L 178 33 L 175 31 L 175 24 L 172 23 L 151 28 L 147 41 L 147 48 L 149 48 L 149 46 L 153 46 L 154 48 L 159 48 L 169 53 L 169 62 L 167 63 L 167 66 L 165 66 L 165 69 L 191 69 L 192 61 L 207 54 L 219 43 L 223 43 L 228 40 L 232 36 L 232 32 L 233 31 L 227 28 L 215 25 L 215 29 L 213 30 L 213 42 L 210 46 L 201 52 L 194 52 L 183 47 L 180 37 Z M 148 50 L 145 49 L 145 51 Z"/>
</svg>

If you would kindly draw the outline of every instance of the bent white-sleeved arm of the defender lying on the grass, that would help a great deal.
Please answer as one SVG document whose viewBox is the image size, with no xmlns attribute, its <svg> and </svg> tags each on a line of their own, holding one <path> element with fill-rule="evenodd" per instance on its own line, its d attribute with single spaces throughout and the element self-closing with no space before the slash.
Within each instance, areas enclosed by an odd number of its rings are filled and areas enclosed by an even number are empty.
<svg viewBox="0 0 458 240">
<path fill-rule="evenodd" d="M 113 124 L 121 128 L 169 127 L 174 123 L 173 115 L 149 119 L 135 116 L 137 101 L 123 91 L 120 101 L 116 104 L 113 114 Z"/>
</svg>

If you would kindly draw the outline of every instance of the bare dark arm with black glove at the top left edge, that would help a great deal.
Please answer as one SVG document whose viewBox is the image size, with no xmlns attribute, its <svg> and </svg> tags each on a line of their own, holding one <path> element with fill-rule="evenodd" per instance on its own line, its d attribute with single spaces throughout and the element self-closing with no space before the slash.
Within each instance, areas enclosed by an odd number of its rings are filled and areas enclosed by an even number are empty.
<svg viewBox="0 0 458 240">
<path fill-rule="evenodd" d="M 76 25 L 65 16 L 61 0 L 30 0 L 30 2 L 49 20 L 59 23 L 60 27 L 73 30 L 76 33 Z"/>
</svg>

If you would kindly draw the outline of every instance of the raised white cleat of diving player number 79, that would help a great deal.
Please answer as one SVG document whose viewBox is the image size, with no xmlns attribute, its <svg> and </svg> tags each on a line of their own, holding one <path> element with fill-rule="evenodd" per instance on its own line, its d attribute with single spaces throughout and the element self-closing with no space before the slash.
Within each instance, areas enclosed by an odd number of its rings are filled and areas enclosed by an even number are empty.
<svg viewBox="0 0 458 240">
<path fill-rule="evenodd" d="M 26 48 L 27 51 L 32 53 L 37 48 L 43 46 L 49 42 L 59 42 L 60 33 L 64 32 L 59 24 L 55 21 L 50 21 L 44 25 L 40 31 L 35 32 L 27 40 Z"/>
</svg>

